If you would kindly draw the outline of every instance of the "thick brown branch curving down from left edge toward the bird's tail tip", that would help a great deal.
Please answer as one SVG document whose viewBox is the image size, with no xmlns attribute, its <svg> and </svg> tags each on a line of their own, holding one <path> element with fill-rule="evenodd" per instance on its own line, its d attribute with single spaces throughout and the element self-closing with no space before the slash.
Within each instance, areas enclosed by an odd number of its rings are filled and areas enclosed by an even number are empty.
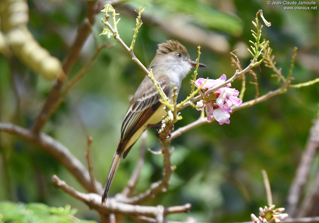
<svg viewBox="0 0 319 223">
<path fill-rule="evenodd" d="M 56 141 L 51 136 L 44 133 L 34 135 L 30 130 L 20 126 L 0 122 L 0 132 L 6 132 L 13 135 L 20 136 L 30 142 L 38 145 L 43 151 L 55 157 L 62 166 L 64 166 L 78 182 L 89 192 L 95 192 L 92 186 L 90 174 L 84 165 L 59 141 Z M 102 186 L 99 182 L 95 181 L 97 191 L 102 191 Z"/>
</svg>

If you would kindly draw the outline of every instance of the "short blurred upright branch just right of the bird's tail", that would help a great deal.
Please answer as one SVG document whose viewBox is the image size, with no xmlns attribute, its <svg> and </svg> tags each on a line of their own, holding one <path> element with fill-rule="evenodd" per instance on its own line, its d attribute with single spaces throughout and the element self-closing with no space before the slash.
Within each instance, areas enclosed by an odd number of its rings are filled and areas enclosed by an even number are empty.
<svg viewBox="0 0 319 223">
<path fill-rule="evenodd" d="M 144 165 L 144 157 L 145 157 L 145 146 L 146 146 L 146 138 L 147 138 L 147 131 L 145 131 L 142 136 L 142 142 L 140 146 L 140 154 L 137 161 L 137 164 L 135 166 L 135 169 L 133 170 L 130 180 L 127 183 L 127 186 L 122 190 L 121 194 L 125 197 L 130 197 L 132 195 L 132 192 L 137 184 L 138 177 L 141 173 L 142 167 Z"/>
</svg>

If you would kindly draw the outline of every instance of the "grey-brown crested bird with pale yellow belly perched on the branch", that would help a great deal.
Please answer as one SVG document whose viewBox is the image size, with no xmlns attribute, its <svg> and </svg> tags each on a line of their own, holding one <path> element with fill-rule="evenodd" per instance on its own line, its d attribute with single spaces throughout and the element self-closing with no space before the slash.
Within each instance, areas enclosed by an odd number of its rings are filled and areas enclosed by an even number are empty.
<svg viewBox="0 0 319 223">
<path fill-rule="evenodd" d="M 175 40 L 168 40 L 158 45 L 149 70 L 152 69 L 155 79 L 160 83 L 167 97 L 171 97 L 173 83 L 178 93 L 182 79 L 195 66 L 196 62 L 189 58 L 189 54 L 182 44 Z M 206 67 L 206 65 L 199 63 L 199 67 Z M 145 131 L 147 125 L 157 124 L 163 117 L 167 116 L 167 111 L 164 110 L 164 105 L 159 102 L 159 99 L 159 93 L 153 82 L 148 76 L 145 76 L 126 112 L 121 129 L 121 138 L 104 186 L 102 204 L 106 202 L 108 191 L 121 158 L 123 157 L 124 159 L 127 156 L 134 143 Z"/>
</svg>

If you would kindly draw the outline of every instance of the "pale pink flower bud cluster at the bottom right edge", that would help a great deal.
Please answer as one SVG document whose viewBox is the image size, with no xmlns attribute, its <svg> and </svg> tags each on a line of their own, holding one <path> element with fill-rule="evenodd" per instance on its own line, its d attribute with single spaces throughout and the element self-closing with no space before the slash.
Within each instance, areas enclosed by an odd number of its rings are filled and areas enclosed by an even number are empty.
<svg viewBox="0 0 319 223">
<path fill-rule="evenodd" d="M 274 221 L 279 223 L 280 221 L 285 221 L 288 218 L 288 214 L 283 213 L 285 208 L 279 207 L 275 209 L 275 205 L 265 206 L 264 208 L 259 208 L 259 216 L 251 214 L 251 220 L 254 223 L 267 223 L 268 221 Z"/>
</svg>

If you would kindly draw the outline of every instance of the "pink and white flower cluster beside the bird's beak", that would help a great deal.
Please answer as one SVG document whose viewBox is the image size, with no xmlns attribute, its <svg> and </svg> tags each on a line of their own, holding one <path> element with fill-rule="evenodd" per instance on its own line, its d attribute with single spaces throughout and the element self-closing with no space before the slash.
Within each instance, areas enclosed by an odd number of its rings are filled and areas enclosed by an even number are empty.
<svg viewBox="0 0 319 223">
<path fill-rule="evenodd" d="M 206 91 L 210 88 L 223 84 L 225 81 L 226 75 L 223 74 L 216 80 L 198 78 L 195 83 L 197 86 L 201 86 L 205 82 L 202 86 L 202 90 Z M 237 97 L 239 95 L 239 91 L 234 88 L 230 88 L 230 86 L 231 84 L 229 83 L 225 87 L 219 88 L 212 94 L 208 95 L 208 97 L 205 98 L 205 101 L 200 100 L 197 102 L 197 106 L 201 107 L 197 110 L 202 110 L 205 107 L 207 120 L 211 120 L 211 114 L 213 114 L 213 117 L 220 125 L 223 125 L 224 123 L 229 124 L 229 113 L 232 113 L 231 106 L 239 106 L 242 103 L 242 100 Z"/>
</svg>

